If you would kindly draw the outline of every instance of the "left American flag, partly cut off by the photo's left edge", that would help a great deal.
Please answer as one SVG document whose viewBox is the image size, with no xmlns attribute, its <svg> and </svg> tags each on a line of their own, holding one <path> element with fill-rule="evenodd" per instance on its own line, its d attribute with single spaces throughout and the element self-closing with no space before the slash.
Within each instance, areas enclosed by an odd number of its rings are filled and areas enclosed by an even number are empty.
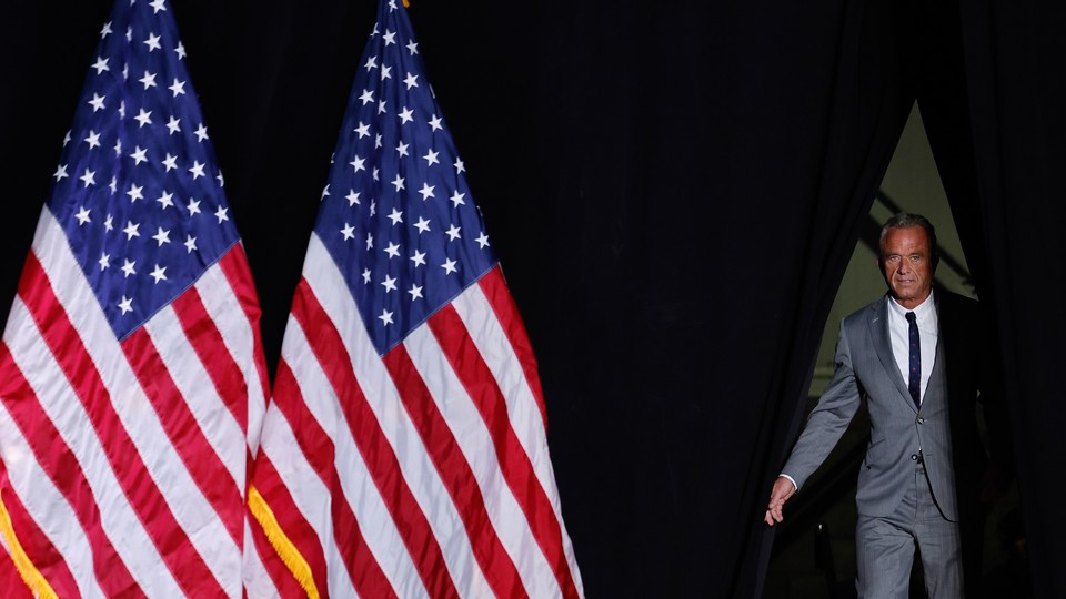
<svg viewBox="0 0 1066 599">
<path fill-rule="evenodd" d="M 0 344 L 0 567 L 240 597 L 259 306 L 169 2 L 118 0 L 91 60 Z"/>
</svg>

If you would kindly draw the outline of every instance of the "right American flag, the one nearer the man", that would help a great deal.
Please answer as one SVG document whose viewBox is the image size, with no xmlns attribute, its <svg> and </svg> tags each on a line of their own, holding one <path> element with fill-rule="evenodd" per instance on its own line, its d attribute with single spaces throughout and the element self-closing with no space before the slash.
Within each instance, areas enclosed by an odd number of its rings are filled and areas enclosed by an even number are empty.
<svg viewBox="0 0 1066 599">
<path fill-rule="evenodd" d="M 249 502 L 250 596 L 583 595 L 536 363 L 395 1 L 349 99 Z"/>
</svg>

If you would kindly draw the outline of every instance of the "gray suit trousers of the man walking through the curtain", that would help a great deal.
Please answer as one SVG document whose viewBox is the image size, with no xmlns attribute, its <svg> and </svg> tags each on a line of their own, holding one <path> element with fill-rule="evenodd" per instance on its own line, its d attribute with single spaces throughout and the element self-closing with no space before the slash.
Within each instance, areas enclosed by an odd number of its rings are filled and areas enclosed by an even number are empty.
<svg viewBox="0 0 1066 599">
<path fill-rule="evenodd" d="M 858 515 L 855 529 L 858 597 L 907 599 L 917 548 L 931 599 L 963 597 L 958 524 L 944 519 L 933 500 L 925 467 L 917 464 L 903 501 L 888 517 Z"/>
</svg>

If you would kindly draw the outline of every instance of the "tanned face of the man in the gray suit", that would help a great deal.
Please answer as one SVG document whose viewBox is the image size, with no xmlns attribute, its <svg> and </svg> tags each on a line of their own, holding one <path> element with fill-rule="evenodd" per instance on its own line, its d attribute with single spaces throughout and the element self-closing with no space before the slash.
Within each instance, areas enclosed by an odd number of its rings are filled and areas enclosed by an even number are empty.
<svg viewBox="0 0 1066 599">
<path fill-rule="evenodd" d="M 892 296 L 913 309 L 933 291 L 929 240 L 921 226 L 889 229 L 881 243 L 881 268 Z"/>
</svg>

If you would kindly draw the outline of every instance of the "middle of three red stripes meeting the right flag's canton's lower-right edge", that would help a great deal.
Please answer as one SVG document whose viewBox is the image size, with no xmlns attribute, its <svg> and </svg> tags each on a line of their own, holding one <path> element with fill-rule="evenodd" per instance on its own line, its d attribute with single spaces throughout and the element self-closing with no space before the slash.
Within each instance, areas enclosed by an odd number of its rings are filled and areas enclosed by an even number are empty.
<svg viewBox="0 0 1066 599">
<path fill-rule="evenodd" d="M 533 470 L 529 455 L 519 441 L 507 416 L 507 400 L 482 359 L 463 321 L 451 304 L 430 317 L 428 324 L 441 344 L 452 368 L 463 382 L 492 436 L 496 459 L 507 486 L 530 522 L 533 537 L 552 566 L 565 597 L 579 597 L 573 573 L 563 551 L 563 534 L 552 501 Z"/>
</svg>

